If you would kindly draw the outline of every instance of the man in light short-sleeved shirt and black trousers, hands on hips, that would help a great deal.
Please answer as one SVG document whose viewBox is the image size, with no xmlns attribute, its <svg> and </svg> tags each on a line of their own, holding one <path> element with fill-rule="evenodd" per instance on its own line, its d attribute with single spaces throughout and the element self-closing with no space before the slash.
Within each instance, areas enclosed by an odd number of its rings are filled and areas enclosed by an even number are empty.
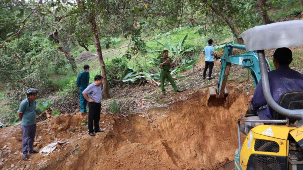
<svg viewBox="0 0 303 170">
<path fill-rule="evenodd" d="M 88 101 L 88 133 L 90 136 L 95 136 L 95 133 L 97 132 L 104 132 L 104 130 L 101 130 L 99 127 L 102 101 L 102 80 L 103 77 L 101 75 L 96 75 L 95 82 L 88 85 L 82 92 L 84 98 Z M 93 128 L 93 124 L 95 129 Z"/>
</svg>

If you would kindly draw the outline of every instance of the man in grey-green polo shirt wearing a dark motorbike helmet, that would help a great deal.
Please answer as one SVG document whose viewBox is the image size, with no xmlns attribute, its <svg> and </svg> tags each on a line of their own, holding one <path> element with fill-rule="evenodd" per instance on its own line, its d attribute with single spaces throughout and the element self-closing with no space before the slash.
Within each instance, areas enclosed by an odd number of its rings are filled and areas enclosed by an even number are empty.
<svg viewBox="0 0 303 170">
<path fill-rule="evenodd" d="M 34 150 L 34 141 L 36 136 L 36 99 L 38 91 L 35 88 L 30 88 L 26 91 L 26 99 L 19 106 L 18 117 L 21 120 L 22 128 L 22 152 L 23 160 L 28 160 L 27 151 L 38 153 Z"/>
</svg>

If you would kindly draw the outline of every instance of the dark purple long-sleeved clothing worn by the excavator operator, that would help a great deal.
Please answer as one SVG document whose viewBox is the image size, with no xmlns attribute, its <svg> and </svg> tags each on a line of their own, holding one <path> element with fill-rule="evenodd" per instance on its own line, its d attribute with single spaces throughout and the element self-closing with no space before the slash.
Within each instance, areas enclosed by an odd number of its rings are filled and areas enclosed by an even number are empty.
<svg viewBox="0 0 303 170">
<path fill-rule="evenodd" d="M 276 102 L 278 102 L 284 92 L 303 90 L 303 75 L 287 66 L 280 66 L 278 69 L 268 72 L 268 77 L 271 95 Z M 254 111 L 258 110 L 261 106 L 267 105 L 262 91 L 261 80 L 251 100 Z M 260 119 L 268 120 L 273 119 L 272 113 L 273 109 L 267 106 L 267 108 L 260 108 L 258 115 Z"/>
</svg>

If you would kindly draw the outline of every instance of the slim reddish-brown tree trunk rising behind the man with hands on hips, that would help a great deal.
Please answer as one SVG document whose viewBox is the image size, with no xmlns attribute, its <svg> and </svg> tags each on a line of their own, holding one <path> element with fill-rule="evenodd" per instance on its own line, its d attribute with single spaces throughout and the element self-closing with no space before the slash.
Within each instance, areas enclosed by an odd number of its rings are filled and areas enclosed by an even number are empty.
<svg viewBox="0 0 303 170">
<path fill-rule="evenodd" d="M 98 53 L 98 60 L 99 60 L 99 64 L 101 67 L 101 75 L 103 77 L 103 95 L 104 95 L 104 99 L 108 99 L 110 98 L 109 95 L 109 88 L 108 88 L 108 81 L 106 78 L 106 72 L 105 72 L 105 63 L 103 60 L 103 56 L 102 56 L 102 50 L 101 50 L 101 45 L 100 45 L 100 40 L 99 40 L 99 34 L 98 34 L 98 28 L 96 25 L 96 21 L 95 21 L 95 16 L 90 15 L 89 16 L 89 22 L 92 26 L 92 31 L 94 33 L 94 44 Z"/>
</svg>

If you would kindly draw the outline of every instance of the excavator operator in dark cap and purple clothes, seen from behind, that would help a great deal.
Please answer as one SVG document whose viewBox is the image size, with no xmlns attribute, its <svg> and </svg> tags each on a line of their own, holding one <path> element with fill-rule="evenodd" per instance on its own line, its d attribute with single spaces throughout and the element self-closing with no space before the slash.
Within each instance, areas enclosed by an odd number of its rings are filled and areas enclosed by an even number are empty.
<svg viewBox="0 0 303 170">
<path fill-rule="evenodd" d="M 292 62 L 292 52 L 289 48 L 278 48 L 273 55 L 275 70 L 268 72 L 271 95 L 277 102 L 280 96 L 287 91 L 303 90 L 303 75 L 289 67 Z M 262 79 L 258 82 L 254 95 L 249 96 L 253 111 L 261 120 L 272 120 L 273 109 L 267 104 L 263 90 Z M 260 108 L 266 106 L 266 108 Z"/>
</svg>

